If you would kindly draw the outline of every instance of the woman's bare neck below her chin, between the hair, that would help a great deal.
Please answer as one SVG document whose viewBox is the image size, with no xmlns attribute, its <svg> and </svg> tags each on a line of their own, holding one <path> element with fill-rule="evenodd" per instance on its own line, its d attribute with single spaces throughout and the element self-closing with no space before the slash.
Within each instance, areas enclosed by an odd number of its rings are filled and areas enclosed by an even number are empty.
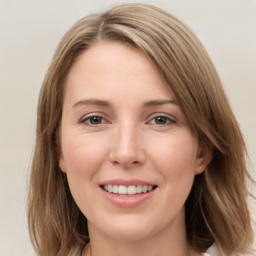
<svg viewBox="0 0 256 256">
<path fill-rule="evenodd" d="M 179 226 L 178 229 L 175 226 L 173 228 L 161 229 L 158 233 L 136 240 L 109 237 L 99 232 L 91 224 L 88 223 L 88 226 L 90 227 L 90 244 L 86 246 L 83 256 L 198 255 L 194 253 L 187 242 L 185 223 L 183 226 Z"/>
</svg>

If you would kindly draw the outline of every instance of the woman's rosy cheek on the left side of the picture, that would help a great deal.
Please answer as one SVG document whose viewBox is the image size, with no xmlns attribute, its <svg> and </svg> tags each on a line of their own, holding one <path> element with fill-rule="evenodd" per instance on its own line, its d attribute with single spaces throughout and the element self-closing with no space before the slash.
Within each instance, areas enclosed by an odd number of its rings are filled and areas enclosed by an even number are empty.
<svg viewBox="0 0 256 256">
<path fill-rule="evenodd" d="M 62 146 L 69 188 L 77 205 L 81 206 L 86 195 L 86 200 L 93 197 L 90 194 L 91 186 L 95 185 L 93 178 L 106 159 L 106 149 L 87 136 L 69 136 Z"/>
</svg>

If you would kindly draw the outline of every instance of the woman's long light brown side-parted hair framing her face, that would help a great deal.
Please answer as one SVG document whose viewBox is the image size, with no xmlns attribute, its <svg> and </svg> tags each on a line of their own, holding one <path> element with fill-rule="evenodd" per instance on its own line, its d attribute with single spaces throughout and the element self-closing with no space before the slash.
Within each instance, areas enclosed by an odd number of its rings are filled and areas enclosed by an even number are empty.
<svg viewBox="0 0 256 256">
<path fill-rule="evenodd" d="M 68 70 L 100 41 L 120 41 L 142 51 L 158 68 L 198 139 L 213 149 L 185 203 L 191 246 L 204 251 L 215 242 L 226 255 L 248 251 L 247 153 L 215 67 L 179 19 L 152 5 L 127 3 L 76 22 L 61 39 L 43 80 L 27 210 L 37 255 L 78 254 L 88 242 L 86 218 L 58 167 L 56 142 Z"/>
</svg>

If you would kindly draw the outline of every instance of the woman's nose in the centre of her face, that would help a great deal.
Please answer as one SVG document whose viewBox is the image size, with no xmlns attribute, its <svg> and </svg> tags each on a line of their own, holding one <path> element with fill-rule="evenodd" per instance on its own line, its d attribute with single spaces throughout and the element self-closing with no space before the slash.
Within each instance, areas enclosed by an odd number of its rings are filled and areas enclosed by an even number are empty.
<svg viewBox="0 0 256 256">
<path fill-rule="evenodd" d="M 145 162 L 142 134 L 135 125 L 122 125 L 112 138 L 109 160 L 114 164 L 130 168 Z"/>
</svg>

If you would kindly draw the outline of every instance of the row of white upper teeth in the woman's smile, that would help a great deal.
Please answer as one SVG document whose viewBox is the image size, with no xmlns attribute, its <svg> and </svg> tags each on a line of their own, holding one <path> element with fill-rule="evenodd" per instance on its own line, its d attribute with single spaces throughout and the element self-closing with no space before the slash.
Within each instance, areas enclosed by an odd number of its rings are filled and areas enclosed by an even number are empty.
<svg viewBox="0 0 256 256">
<path fill-rule="evenodd" d="M 125 185 L 103 185 L 103 189 L 106 190 L 109 193 L 116 193 L 118 195 L 125 195 L 128 194 L 133 195 L 136 193 L 146 193 L 150 192 L 154 186 L 146 186 L 146 185 L 131 185 L 131 186 L 125 186 Z"/>
</svg>

